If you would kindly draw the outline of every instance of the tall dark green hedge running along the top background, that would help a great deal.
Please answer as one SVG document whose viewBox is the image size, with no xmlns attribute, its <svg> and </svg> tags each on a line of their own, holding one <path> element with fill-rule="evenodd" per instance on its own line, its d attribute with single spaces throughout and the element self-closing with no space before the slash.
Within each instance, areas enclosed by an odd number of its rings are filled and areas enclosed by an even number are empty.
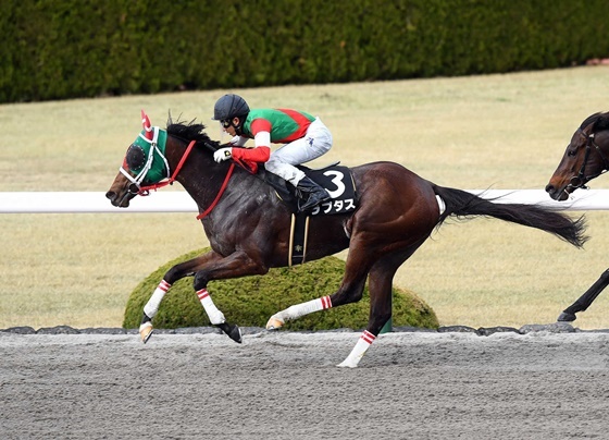
<svg viewBox="0 0 609 440">
<path fill-rule="evenodd" d="M 605 0 L 5 0 L 0 102 L 549 69 L 609 57 Z"/>
</svg>

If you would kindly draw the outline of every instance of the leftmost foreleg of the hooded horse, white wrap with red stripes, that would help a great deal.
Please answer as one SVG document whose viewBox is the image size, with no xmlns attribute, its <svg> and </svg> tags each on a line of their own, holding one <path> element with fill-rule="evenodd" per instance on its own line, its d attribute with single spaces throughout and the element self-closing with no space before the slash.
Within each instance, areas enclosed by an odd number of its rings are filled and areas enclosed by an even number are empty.
<svg viewBox="0 0 609 440">
<path fill-rule="evenodd" d="M 141 341 L 144 343 L 148 342 L 148 340 L 152 335 L 152 332 L 154 330 L 152 326 L 152 318 L 154 318 L 154 316 L 159 311 L 161 302 L 163 301 L 172 284 L 184 277 L 195 274 L 199 267 L 207 265 L 210 260 L 217 258 L 222 257 L 213 252 L 210 252 L 197 258 L 192 258 L 188 261 L 175 265 L 170 270 L 167 270 L 157 289 L 154 289 L 152 296 L 150 296 L 148 303 L 146 303 L 146 306 L 144 306 L 144 314 L 141 316 L 141 322 L 139 325 L 139 335 L 141 337 Z"/>
</svg>

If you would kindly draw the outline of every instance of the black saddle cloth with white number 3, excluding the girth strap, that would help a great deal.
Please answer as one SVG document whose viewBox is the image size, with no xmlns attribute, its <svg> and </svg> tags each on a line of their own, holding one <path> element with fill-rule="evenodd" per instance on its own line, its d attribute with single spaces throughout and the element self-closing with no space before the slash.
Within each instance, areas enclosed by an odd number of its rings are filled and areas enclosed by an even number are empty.
<svg viewBox="0 0 609 440">
<path fill-rule="evenodd" d="M 328 201 L 314 207 L 311 212 L 307 212 L 308 216 L 346 213 L 357 208 L 358 197 L 351 170 L 338 163 L 335 162 L 321 169 L 296 166 L 309 179 L 325 188 L 332 197 Z M 290 208 L 291 212 L 298 212 L 299 197 L 291 183 L 266 171 L 263 164 L 259 164 L 258 175 L 275 190 L 277 197 Z"/>
</svg>

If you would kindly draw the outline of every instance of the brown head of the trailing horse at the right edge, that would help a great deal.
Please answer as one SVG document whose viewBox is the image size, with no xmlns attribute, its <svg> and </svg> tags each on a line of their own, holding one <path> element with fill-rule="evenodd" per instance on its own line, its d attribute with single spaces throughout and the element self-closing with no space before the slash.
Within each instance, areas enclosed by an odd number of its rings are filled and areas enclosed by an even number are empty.
<svg viewBox="0 0 609 440">
<path fill-rule="evenodd" d="M 575 131 L 546 192 L 555 200 L 566 200 L 577 188 L 609 170 L 609 113 L 586 118 Z"/>
</svg>

